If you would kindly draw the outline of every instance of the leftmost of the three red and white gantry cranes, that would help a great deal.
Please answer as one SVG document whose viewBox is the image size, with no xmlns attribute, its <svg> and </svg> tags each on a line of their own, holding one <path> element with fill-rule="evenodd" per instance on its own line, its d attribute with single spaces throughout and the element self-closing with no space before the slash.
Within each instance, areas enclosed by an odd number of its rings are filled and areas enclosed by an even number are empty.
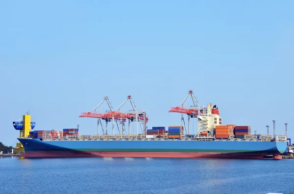
<svg viewBox="0 0 294 194">
<path fill-rule="evenodd" d="M 98 119 L 98 121 L 97 121 L 98 135 L 99 135 L 99 124 L 101 124 L 101 128 L 102 128 L 102 131 L 103 131 L 103 134 L 104 134 L 101 119 L 105 120 L 105 123 L 106 123 L 106 127 L 105 127 L 106 132 L 105 132 L 105 134 L 108 134 L 108 122 L 112 121 L 112 133 L 114 135 L 114 121 L 115 121 L 115 119 L 118 119 L 118 118 L 116 118 L 116 117 L 114 117 L 112 115 L 111 116 L 106 115 L 106 111 L 101 112 L 101 108 L 103 107 L 103 104 L 105 102 L 107 103 L 108 107 L 110 108 L 110 111 L 113 111 L 113 109 L 111 107 L 111 104 L 109 103 L 108 97 L 105 96 L 104 99 L 95 108 L 93 108 L 90 112 L 82 112 L 79 117 L 97 118 Z M 96 111 L 97 108 L 98 108 L 98 111 Z"/>
</svg>

